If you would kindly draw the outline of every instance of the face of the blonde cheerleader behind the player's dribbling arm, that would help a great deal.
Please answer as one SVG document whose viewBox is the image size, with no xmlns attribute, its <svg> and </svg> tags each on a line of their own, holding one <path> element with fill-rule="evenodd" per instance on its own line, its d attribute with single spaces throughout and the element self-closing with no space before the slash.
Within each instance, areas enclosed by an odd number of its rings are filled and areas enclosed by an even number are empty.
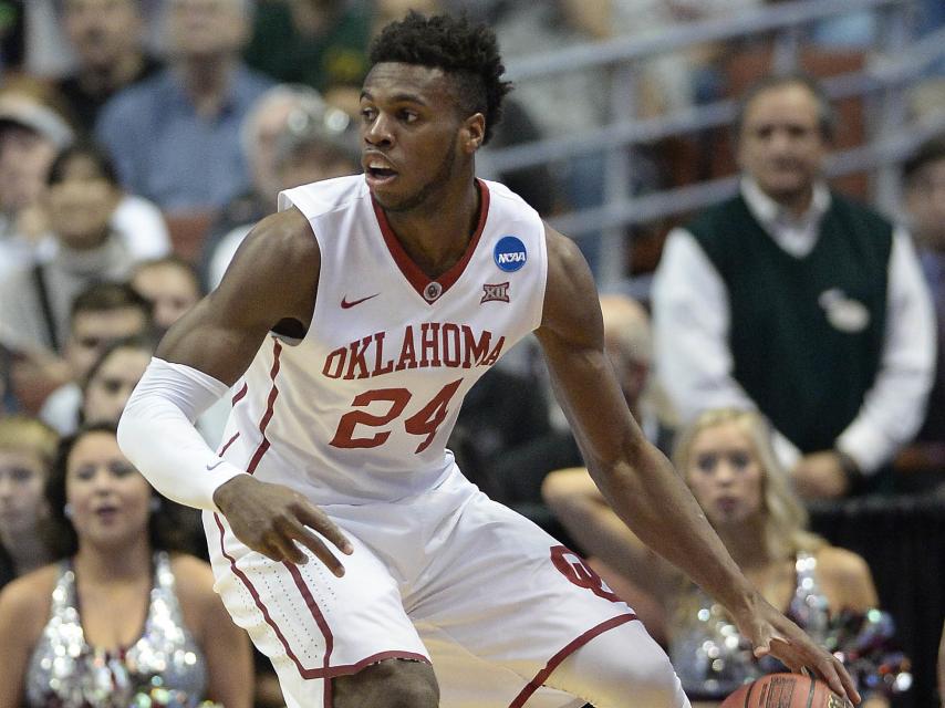
<svg viewBox="0 0 945 708">
<path fill-rule="evenodd" d="M 760 512 L 761 478 L 758 456 L 738 423 L 721 423 L 696 435 L 686 479 L 714 527 L 740 523 Z"/>
</svg>

